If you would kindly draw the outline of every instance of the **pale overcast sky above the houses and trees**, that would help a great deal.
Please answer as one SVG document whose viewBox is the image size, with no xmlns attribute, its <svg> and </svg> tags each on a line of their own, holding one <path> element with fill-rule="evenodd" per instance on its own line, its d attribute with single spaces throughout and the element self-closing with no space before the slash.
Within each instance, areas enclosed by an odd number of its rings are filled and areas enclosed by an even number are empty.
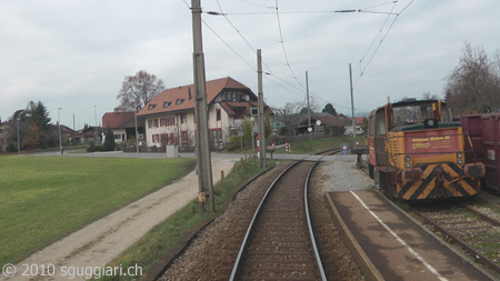
<svg viewBox="0 0 500 281">
<path fill-rule="evenodd" d="M 52 121 L 98 124 L 124 77 L 146 70 L 167 88 L 191 84 L 190 0 L 0 1 L 0 117 L 30 100 Z M 490 59 L 500 50 L 498 0 L 202 0 L 207 80 L 232 77 L 263 92 L 271 107 L 311 98 L 350 114 L 423 92 L 443 97 L 464 42 Z M 278 7 L 277 7 L 278 6 Z M 277 9 L 278 8 L 278 9 Z M 338 13 L 336 10 L 360 10 Z M 278 14 L 277 14 L 278 11 Z M 392 13 L 392 14 L 390 14 Z M 96 114 L 97 113 L 97 114 Z"/>
</svg>

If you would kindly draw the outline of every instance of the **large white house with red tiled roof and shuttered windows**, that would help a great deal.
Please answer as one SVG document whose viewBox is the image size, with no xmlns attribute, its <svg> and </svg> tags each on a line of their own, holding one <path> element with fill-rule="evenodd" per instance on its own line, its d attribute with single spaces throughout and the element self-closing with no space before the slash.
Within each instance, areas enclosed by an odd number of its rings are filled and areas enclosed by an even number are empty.
<svg viewBox="0 0 500 281">
<path fill-rule="evenodd" d="M 251 117 L 251 109 L 258 108 L 258 97 L 230 77 L 207 81 L 206 90 L 211 149 L 223 148 L 243 119 Z M 266 104 L 264 110 L 273 114 Z M 161 92 L 137 116 L 144 119 L 148 147 L 196 145 L 193 84 Z"/>
</svg>

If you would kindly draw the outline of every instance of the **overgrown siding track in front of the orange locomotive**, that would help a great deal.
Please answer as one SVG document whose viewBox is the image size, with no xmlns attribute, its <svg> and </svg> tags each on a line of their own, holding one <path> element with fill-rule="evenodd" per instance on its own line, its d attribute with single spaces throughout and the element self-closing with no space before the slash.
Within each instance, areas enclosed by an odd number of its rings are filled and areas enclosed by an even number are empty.
<svg viewBox="0 0 500 281">
<path fill-rule="evenodd" d="M 436 231 L 460 244 L 476 260 L 500 273 L 500 221 L 474 208 L 412 207 Z"/>
</svg>

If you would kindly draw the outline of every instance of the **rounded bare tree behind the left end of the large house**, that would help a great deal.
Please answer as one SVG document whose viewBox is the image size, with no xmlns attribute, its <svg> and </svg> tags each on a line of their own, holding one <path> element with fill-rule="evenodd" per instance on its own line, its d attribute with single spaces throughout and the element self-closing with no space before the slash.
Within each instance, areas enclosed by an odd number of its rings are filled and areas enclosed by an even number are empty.
<svg viewBox="0 0 500 281">
<path fill-rule="evenodd" d="M 116 112 L 139 111 L 154 97 L 164 90 L 163 80 L 158 79 L 144 70 L 134 76 L 126 77 L 121 83 L 117 99 L 120 106 L 114 108 Z"/>
</svg>

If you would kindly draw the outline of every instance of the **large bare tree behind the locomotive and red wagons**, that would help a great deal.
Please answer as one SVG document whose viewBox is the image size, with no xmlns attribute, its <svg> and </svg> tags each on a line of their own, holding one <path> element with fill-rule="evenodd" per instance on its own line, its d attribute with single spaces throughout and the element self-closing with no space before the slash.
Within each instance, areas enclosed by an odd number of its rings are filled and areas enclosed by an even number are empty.
<svg viewBox="0 0 500 281">
<path fill-rule="evenodd" d="M 482 47 L 464 43 L 459 66 L 447 78 L 444 99 L 457 114 L 483 113 L 500 108 L 500 80 L 496 64 Z"/>
</svg>

